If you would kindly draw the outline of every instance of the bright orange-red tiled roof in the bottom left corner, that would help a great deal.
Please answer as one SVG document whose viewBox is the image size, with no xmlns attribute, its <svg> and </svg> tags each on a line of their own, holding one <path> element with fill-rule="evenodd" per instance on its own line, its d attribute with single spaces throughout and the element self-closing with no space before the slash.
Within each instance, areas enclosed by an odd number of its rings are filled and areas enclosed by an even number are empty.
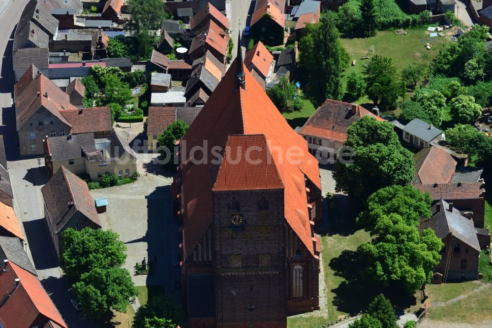
<svg viewBox="0 0 492 328">
<path fill-rule="evenodd" d="M 4 298 L 0 307 L 0 321 L 4 327 L 42 326 L 51 320 L 62 328 L 67 328 L 60 312 L 35 275 L 10 261 L 6 269 L 0 271 L 0 295 L 10 294 Z M 17 278 L 20 284 L 14 289 Z"/>
</svg>

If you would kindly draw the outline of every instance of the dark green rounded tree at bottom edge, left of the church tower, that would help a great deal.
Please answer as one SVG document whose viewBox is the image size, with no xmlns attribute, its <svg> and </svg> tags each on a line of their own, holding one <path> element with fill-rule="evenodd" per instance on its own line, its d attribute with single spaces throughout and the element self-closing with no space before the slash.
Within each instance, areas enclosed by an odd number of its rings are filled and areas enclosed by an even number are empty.
<svg viewBox="0 0 492 328">
<path fill-rule="evenodd" d="M 166 320 L 172 323 L 169 327 L 180 325 L 183 327 L 184 314 L 180 306 L 169 297 L 154 296 L 149 299 L 149 302 L 138 308 L 133 319 L 133 328 L 147 328 L 146 319 Z M 152 326 L 151 326 L 152 327 Z M 158 328 L 162 328 L 158 326 Z M 164 326 L 167 328 L 167 326 Z"/>
</svg>

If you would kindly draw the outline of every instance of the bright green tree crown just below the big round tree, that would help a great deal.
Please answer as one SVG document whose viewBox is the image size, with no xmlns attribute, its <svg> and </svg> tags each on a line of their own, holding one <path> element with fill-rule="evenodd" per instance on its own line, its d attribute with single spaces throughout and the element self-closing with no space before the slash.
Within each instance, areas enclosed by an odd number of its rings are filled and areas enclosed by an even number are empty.
<svg viewBox="0 0 492 328">
<path fill-rule="evenodd" d="M 411 185 L 381 188 L 369 196 L 367 209 L 359 214 L 357 223 L 373 232 L 381 215 L 395 213 L 407 225 L 417 227 L 421 218 L 431 218 L 431 203 L 428 193 L 423 194 Z"/>
</svg>

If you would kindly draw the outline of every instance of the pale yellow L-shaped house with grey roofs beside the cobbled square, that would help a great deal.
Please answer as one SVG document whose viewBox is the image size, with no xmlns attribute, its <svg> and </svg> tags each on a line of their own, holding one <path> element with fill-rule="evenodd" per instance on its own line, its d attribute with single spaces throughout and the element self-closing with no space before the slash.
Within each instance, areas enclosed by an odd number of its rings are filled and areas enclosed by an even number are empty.
<svg viewBox="0 0 492 328">
<path fill-rule="evenodd" d="M 44 154 L 50 177 L 61 166 L 74 174 L 87 173 L 92 181 L 101 181 L 104 174 L 127 178 L 137 171 L 135 153 L 115 131 L 107 138 L 94 138 L 93 133 L 49 137 Z"/>
</svg>

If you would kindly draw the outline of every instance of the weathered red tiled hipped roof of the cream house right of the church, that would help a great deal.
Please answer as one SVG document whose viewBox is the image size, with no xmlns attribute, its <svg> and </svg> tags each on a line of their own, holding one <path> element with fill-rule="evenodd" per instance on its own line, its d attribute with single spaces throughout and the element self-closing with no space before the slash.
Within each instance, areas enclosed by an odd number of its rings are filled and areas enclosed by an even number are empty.
<svg viewBox="0 0 492 328">
<path fill-rule="evenodd" d="M 378 121 L 384 121 L 362 106 L 357 105 L 355 114 L 351 110 L 352 104 L 348 102 L 326 99 L 307 120 L 299 134 L 345 142 L 348 127 L 362 116 L 369 115 Z"/>
</svg>

